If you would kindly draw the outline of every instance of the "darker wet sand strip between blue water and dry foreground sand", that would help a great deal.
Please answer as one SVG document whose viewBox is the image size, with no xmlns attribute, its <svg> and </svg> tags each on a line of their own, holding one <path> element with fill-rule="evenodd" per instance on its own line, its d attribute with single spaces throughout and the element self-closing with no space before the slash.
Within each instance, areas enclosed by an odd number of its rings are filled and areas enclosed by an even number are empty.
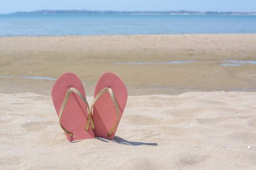
<svg viewBox="0 0 256 170">
<path fill-rule="evenodd" d="M 93 95 L 96 81 L 114 72 L 130 95 L 195 91 L 256 91 L 256 35 L 123 35 L 92 37 L 0 37 L 0 93 L 51 95 L 53 80 L 76 73 Z M 193 61 L 166 63 L 169 61 Z"/>
</svg>

